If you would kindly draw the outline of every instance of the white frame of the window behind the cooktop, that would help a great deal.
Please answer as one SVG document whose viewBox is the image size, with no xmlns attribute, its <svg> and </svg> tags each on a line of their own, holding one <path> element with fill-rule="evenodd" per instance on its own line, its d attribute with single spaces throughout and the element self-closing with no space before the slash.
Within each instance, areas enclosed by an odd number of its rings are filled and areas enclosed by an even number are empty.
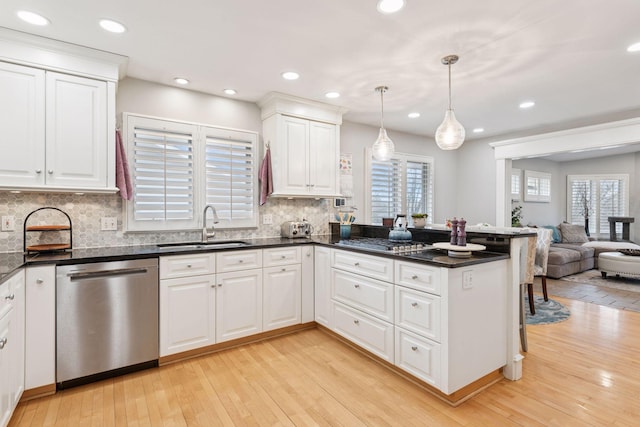
<svg viewBox="0 0 640 427">
<path fill-rule="evenodd" d="M 364 172 L 364 181 L 365 181 L 365 200 L 364 200 L 364 205 L 365 205 L 365 212 L 364 212 L 364 218 L 365 218 L 365 223 L 367 224 L 372 224 L 372 225 L 382 225 L 382 223 L 380 224 L 374 224 L 373 223 L 373 215 L 372 215 L 372 200 L 371 200 L 371 185 L 372 185 L 372 177 L 371 177 L 371 167 L 373 165 L 373 154 L 371 151 L 370 147 L 366 147 L 365 148 L 365 172 Z M 420 155 L 420 154 L 409 154 L 409 153 L 399 153 L 399 152 L 395 152 L 393 157 L 391 158 L 391 160 L 397 160 L 402 162 L 402 168 L 401 168 L 401 188 L 402 188 L 402 200 L 401 200 L 401 212 L 396 212 L 396 215 L 398 213 L 404 213 L 407 215 L 407 218 L 409 218 L 411 216 L 412 212 L 407 212 L 407 168 L 406 168 L 406 164 L 407 162 L 417 162 L 417 163 L 427 163 L 429 164 L 429 175 L 430 175 L 430 188 L 427 190 L 427 200 L 425 201 L 425 205 L 426 208 L 425 210 L 427 212 L 423 212 L 423 213 L 427 213 L 429 216 L 427 218 L 427 224 L 432 224 L 433 223 L 433 218 L 434 218 L 434 211 L 435 211 L 435 160 L 433 157 L 431 156 L 424 156 L 424 155 Z M 429 191 L 431 192 L 431 203 L 429 203 Z M 395 215 L 394 215 L 395 218 Z"/>
</svg>

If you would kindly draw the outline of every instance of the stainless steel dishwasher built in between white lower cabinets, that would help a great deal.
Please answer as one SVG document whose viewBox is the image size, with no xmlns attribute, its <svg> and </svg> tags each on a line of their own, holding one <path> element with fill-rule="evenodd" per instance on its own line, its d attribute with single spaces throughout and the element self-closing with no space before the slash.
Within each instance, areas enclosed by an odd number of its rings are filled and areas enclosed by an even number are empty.
<svg viewBox="0 0 640 427">
<path fill-rule="evenodd" d="M 67 388 L 158 365 L 158 259 L 59 266 L 56 382 Z"/>
</svg>

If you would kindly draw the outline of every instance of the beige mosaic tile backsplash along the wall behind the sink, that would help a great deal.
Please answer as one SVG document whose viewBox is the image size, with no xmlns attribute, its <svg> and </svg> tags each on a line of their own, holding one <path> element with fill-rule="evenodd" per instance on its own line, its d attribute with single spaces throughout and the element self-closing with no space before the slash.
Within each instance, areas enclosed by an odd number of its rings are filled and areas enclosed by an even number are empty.
<svg viewBox="0 0 640 427">
<path fill-rule="evenodd" d="M 258 228 L 241 230 L 216 230 L 216 239 L 265 238 L 280 236 L 280 224 L 284 221 L 308 220 L 314 227 L 313 234 L 329 234 L 329 219 L 333 216 L 331 200 L 327 199 L 274 199 L 260 206 Z M 193 241 L 201 238 L 201 230 L 124 233 L 122 231 L 122 207 L 124 201 L 118 194 L 77 195 L 73 193 L 9 193 L 0 192 L 0 215 L 15 218 L 15 231 L 0 232 L 0 253 L 23 250 L 24 220 L 29 213 L 41 207 L 58 208 L 71 218 L 74 248 L 99 248 L 115 246 L 149 245 L 161 242 Z M 273 216 L 273 224 L 262 225 L 262 215 Z M 116 217 L 117 231 L 102 231 L 101 219 Z M 29 225 L 66 224 L 67 220 L 57 210 L 41 210 L 29 218 Z M 58 234 L 61 233 L 61 234 Z M 57 243 L 66 241 L 60 232 L 27 233 L 28 244 Z"/>
</svg>

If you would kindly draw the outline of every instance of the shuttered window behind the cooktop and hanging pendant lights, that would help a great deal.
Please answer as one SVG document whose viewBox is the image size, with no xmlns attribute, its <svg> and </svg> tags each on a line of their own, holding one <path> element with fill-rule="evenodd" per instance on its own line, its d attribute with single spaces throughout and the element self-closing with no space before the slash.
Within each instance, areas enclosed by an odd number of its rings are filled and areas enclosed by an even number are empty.
<svg viewBox="0 0 640 427">
<path fill-rule="evenodd" d="M 399 213 L 427 213 L 433 218 L 433 158 L 395 153 L 380 162 L 366 150 L 367 222 L 382 225 L 382 218 L 395 218 Z"/>
</svg>

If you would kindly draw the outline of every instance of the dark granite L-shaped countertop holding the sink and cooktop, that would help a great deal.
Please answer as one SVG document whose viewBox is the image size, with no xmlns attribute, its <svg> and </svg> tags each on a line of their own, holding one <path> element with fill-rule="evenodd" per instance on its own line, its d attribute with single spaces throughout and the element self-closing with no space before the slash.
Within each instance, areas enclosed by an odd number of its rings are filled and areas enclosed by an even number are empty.
<svg viewBox="0 0 640 427">
<path fill-rule="evenodd" d="M 426 231 L 426 230 L 425 230 Z M 440 230 L 439 230 L 440 231 Z M 388 232 L 388 230 L 387 230 Z M 442 232 L 442 231 L 441 231 Z M 417 233 L 416 233 L 417 234 Z M 435 233 L 439 234 L 439 233 Z M 506 237 L 505 241 L 499 239 L 500 236 Z M 357 238 L 358 236 L 354 236 Z M 441 237 L 443 236 L 438 236 Z M 496 242 L 498 237 L 499 243 Z M 180 248 L 180 247 L 159 247 L 157 245 L 145 245 L 145 246 L 117 246 L 117 247 L 105 247 L 105 248 L 86 248 L 86 249 L 73 249 L 64 252 L 54 253 L 36 253 L 36 254 L 24 254 L 22 252 L 10 252 L 0 253 L 0 281 L 10 277 L 13 273 L 18 271 L 19 268 L 31 265 L 41 264 L 82 264 L 88 262 L 107 262 L 107 261 L 121 261 L 126 259 L 141 259 L 141 258 L 155 258 L 164 255 L 180 255 L 197 253 L 202 251 L 222 251 L 222 250 L 244 250 L 244 249 L 264 249 L 277 246 L 291 246 L 291 245 L 308 245 L 319 244 L 323 246 L 336 247 L 339 249 L 359 252 L 364 254 L 383 256 L 394 259 L 401 259 L 406 261 L 424 262 L 431 265 L 437 265 L 447 268 L 463 267 L 473 264 L 480 264 L 485 262 L 497 261 L 501 259 L 509 258 L 508 246 L 509 235 L 503 233 L 487 233 L 484 235 L 477 235 L 470 237 L 469 240 L 474 243 L 487 244 L 486 251 L 473 252 L 470 258 L 452 258 L 447 256 L 446 251 L 438 249 L 429 249 L 417 254 L 393 254 L 380 251 L 371 251 L 362 248 L 353 248 L 338 246 L 336 243 L 339 238 L 336 235 L 326 236 L 313 236 L 311 238 L 300 239 L 286 239 L 286 238 L 263 238 L 263 239 L 238 239 L 246 242 L 246 246 L 237 248 Z M 488 239 L 488 241 L 487 241 Z M 422 240 L 422 239 L 421 239 Z M 423 240 L 426 241 L 426 240 Z M 492 245 L 493 243 L 494 245 Z M 496 246 L 495 243 L 498 243 Z M 506 251 L 505 249 L 506 245 Z"/>
</svg>

